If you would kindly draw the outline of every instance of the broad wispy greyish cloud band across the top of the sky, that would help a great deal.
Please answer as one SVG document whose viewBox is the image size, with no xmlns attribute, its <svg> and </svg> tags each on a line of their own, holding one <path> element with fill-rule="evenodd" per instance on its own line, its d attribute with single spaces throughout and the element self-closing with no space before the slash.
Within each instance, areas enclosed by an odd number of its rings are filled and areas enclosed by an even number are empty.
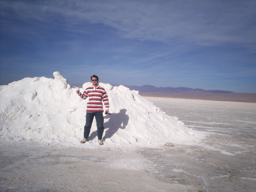
<svg viewBox="0 0 256 192">
<path fill-rule="evenodd" d="M 62 22 L 77 33 L 85 32 L 87 23 L 102 23 L 125 38 L 253 49 L 256 44 L 255 1 L 5 1 L 2 6 L 20 20 Z"/>
</svg>

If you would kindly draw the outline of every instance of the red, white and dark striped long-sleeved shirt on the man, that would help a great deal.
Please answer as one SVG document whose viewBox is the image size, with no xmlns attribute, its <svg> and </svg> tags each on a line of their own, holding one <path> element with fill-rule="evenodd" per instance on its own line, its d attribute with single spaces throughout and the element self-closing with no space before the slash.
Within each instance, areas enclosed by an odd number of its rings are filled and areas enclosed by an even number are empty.
<svg viewBox="0 0 256 192">
<path fill-rule="evenodd" d="M 82 99 L 86 99 L 87 97 L 89 97 L 86 112 L 98 112 L 98 111 L 103 112 L 104 110 L 103 110 L 102 100 L 104 102 L 106 109 L 108 109 L 109 107 L 108 96 L 103 87 L 100 87 L 100 86 L 96 88 L 94 86 L 88 87 L 86 88 L 84 93 L 83 94 L 80 93 L 79 96 Z"/>
</svg>

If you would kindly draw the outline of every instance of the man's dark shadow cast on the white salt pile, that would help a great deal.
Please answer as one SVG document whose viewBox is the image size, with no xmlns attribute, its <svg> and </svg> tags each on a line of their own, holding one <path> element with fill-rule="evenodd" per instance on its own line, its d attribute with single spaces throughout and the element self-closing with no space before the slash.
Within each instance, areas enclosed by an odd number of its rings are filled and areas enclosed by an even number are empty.
<svg viewBox="0 0 256 192">
<path fill-rule="evenodd" d="M 125 113 L 126 109 L 121 109 L 119 113 L 112 113 L 111 115 L 106 115 L 104 117 L 104 119 L 109 120 L 103 124 L 104 128 L 108 128 L 108 130 L 106 130 L 102 141 L 104 141 L 106 138 L 111 138 L 118 131 L 118 129 L 125 129 L 129 121 L 129 116 Z M 92 132 L 89 136 L 89 140 L 93 140 L 95 137 L 97 137 L 97 135 L 97 130 Z"/>
</svg>

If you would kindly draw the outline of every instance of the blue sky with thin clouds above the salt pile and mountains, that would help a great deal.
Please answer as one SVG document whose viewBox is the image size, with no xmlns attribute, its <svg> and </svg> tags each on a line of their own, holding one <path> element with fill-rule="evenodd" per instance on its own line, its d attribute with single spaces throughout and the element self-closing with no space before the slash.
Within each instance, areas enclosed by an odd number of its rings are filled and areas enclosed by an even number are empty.
<svg viewBox="0 0 256 192">
<path fill-rule="evenodd" d="M 256 1 L 0 1 L 0 84 L 53 77 L 256 93 Z"/>
</svg>

